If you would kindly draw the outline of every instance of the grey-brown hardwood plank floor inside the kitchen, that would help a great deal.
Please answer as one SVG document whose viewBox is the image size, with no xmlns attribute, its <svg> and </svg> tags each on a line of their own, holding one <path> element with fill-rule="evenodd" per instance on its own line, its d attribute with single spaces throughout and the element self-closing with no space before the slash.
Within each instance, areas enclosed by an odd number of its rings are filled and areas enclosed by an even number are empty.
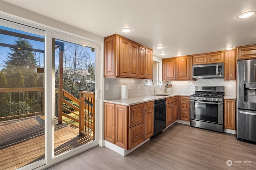
<svg viewBox="0 0 256 170">
<path fill-rule="evenodd" d="M 231 166 L 226 164 L 228 160 L 232 160 Z M 106 147 L 95 147 L 48 168 L 82 169 L 255 170 L 256 145 L 239 141 L 235 135 L 175 123 L 127 156 Z"/>
</svg>

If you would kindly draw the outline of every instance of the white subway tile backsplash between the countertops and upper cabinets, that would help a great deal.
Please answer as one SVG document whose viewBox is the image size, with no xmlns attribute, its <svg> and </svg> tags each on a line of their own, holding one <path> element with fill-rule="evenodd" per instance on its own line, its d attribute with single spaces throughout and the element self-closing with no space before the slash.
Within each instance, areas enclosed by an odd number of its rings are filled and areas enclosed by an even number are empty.
<svg viewBox="0 0 256 170">
<path fill-rule="evenodd" d="M 109 84 L 109 90 L 106 90 L 106 84 Z M 147 96 L 154 94 L 154 86 L 144 86 L 143 79 L 130 78 L 104 78 L 104 100 L 121 98 L 121 85 L 130 84 L 128 98 L 137 96 Z M 225 86 L 225 96 L 236 97 L 236 81 L 224 81 L 224 79 L 198 79 L 196 81 L 163 81 L 162 90 L 156 86 L 157 93 L 166 92 L 165 85 L 172 84 L 171 92 L 192 95 L 195 92 L 195 86 Z"/>
</svg>

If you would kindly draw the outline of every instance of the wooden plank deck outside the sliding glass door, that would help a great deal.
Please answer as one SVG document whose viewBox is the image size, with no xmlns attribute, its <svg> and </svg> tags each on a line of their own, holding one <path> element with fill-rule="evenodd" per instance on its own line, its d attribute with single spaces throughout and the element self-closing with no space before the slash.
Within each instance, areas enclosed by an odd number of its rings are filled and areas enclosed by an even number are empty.
<svg viewBox="0 0 256 170">
<path fill-rule="evenodd" d="M 54 153 L 61 154 L 92 141 L 78 129 L 55 124 Z M 0 170 L 17 169 L 44 159 L 44 116 L 0 123 Z"/>
</svg>

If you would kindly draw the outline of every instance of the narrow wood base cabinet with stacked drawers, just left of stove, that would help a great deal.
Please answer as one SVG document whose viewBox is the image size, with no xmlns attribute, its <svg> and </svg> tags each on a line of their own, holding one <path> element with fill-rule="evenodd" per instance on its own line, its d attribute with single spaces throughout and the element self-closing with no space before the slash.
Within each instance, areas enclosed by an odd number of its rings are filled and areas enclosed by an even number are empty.
<svg viewBox="0 0 256 170">
<path fill-rule="evenodd" d="M 179 96 L 180 119 L 190 121 L 190 97 Z"/>
</svg>

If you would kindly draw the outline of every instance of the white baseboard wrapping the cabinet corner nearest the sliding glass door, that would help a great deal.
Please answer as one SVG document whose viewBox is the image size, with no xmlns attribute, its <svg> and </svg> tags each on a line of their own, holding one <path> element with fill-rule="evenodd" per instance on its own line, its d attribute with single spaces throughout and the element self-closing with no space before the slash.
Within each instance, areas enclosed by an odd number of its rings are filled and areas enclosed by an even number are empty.
<svg viewBox="0 0 256 170">
<path fill-rule="evenodd" d="M 105 147 L 107 147 L 108 149 L 111 149 L 117 153 L 119 153 L 120 155 L 122 156 L 126 156 L 128 155 L 130 152 L 134 151 L 135 149 L 137 149 L 138 147 L 140 147 L 141 145 L 143 145 L 144 143 L 146 143 L 147 141 L 149 141 L 150 138 L 146 139 L 145 141 L 143 141 L 142 143 L 140 143 L 139 145 L 137 145 L 136 147 L 134 147 L 133 149 L 131 150 L 125 150 L 125 149 L 122 149 L 116 145 L 114 145 L 113 143 L 110 143 L 108 141 L 104 141 L 104 144 L 105 144 Z"/>
</svg>

